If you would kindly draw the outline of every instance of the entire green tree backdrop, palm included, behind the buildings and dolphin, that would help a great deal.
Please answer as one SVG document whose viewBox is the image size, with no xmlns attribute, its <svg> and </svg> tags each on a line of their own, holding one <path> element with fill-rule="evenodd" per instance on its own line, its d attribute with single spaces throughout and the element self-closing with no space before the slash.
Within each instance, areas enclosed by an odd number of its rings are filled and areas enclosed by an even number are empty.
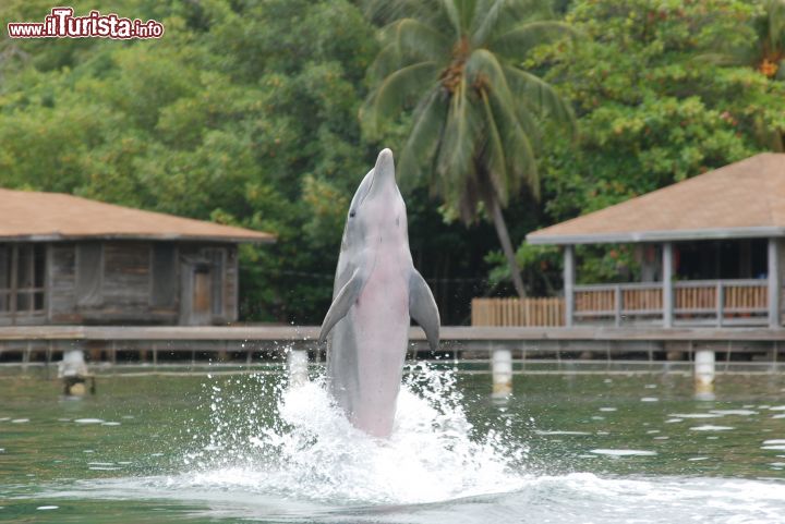
<svg viewBox="0 0 785 524">
<path fill-rule="evenodd" d="M 785 136 L 782 0 L 72 4 L 166 33 L 0 39 L 0 186 L 276 233 L 242 249 L 246 320 L 321 320 L 383 146 L 414 263 L 460 322 L 473 295 L 558 292 L 558 253 L 529 231 Z M 9 0 L 0 17 L 51 7 Z M 624 246 L 579 255 L 585 279 L 635 271 Z"/>
</svg>

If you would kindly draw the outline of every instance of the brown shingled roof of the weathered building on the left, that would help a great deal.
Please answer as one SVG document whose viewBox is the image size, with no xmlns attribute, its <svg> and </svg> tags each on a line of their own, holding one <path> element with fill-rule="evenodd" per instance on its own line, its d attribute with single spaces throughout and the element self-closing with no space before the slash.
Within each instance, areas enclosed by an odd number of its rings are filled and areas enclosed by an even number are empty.
<svg viewBox="0 0 785 524">
<path fill-rule="evenodd" d="M 262 231 L 142 211 L 61 193 L 0 188 L 0 240 L 65 239 L 275 242 Z"/>
</svg>

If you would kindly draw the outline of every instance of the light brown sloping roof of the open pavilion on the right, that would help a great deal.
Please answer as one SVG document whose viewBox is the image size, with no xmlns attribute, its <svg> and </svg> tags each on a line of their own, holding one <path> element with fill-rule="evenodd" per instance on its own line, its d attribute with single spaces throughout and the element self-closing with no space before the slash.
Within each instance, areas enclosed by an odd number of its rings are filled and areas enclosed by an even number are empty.
<svg viewBox="0 0 785 524">
<path fill-rule="evenodd" d="M 530 244 L 785 236 L 785 154 L 764 153 L 530 233 Z"/>
</svg>

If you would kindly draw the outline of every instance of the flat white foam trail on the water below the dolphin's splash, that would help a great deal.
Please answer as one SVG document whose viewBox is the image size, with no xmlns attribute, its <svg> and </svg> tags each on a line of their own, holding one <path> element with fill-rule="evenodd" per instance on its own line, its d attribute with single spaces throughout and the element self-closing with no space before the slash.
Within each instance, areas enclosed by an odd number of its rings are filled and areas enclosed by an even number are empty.
<svg viewBox="0 0 785 524">
<path fill-rule="evenodd" d="M 596 456 L 596 455 L 595 455 Z M 601 460 L 600 456 L 596 456 Z M 776 472 L 776 470 L 771 470 Z M 517 487 L 500 493 L 466 497 L 444 503 L 374 504 L 335 499 L 313 501 L 301 493 L 267 493 L 253 475 L 225 484 L 195 485 L 180 478 L 101 478 L 77 483 L 41 499 L 155 501 L 191 505 L 216 522 L 309 522 L 314 524 L 434 524 L 485 522 L 619 522 L 673 524 L 711 522 L 771 524 L 783 522 L 783 484 L 771 479 L 712 477 L 603 478 L 591 473 L 524 475 Z M 247 472 L 245 472 L 247 473 Z M 777 473 L 778 474 L 778 473 Z M 349 479 L 348 479 L 349 480 Z M 245 482 L 246 484 L 243 484 Z M 281 490 L 282 491 L 282 490 Z M 212 517 L 212 519 L 210 519 Z"/>
</svg>

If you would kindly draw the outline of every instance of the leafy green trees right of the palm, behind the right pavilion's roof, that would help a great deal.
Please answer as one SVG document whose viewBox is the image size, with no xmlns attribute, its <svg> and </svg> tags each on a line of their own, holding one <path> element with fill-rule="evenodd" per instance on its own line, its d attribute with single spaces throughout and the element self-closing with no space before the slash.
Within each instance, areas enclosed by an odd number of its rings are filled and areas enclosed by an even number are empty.
<svg viewBox="0 0 785 524">
<path fill-rule="evenodd" d="M 584 38 L 541 47 L 576 107 L 579 139 L 551 133 L 541 157 L 547 222 L 560 221 L 766 149 L 760 129 L 785 130 L 785 90 L 751 68 L 699 57 L 756 38 L 754 4 L 579 0 L 567 15 Z M 616 257 L 611 257 L 611 252 Z M 613 280 L 619 251 L 583 249 L 579 278 Z"/>
</svg>

